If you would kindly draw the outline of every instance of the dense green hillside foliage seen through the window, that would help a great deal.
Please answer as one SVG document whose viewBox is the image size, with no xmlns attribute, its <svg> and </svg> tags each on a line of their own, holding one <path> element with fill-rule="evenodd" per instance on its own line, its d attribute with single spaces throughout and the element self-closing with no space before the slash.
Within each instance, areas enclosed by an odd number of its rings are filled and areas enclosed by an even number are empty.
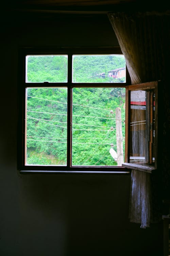
<svg viewBox="0 0 170 256">
<path fill-rule="evenodd" d="M 115 166 L 109 153 L 116 145 L 116 108 L 121 108 L 122 140 L 125 138 L 125 88 L 113 87 L 123 79 L 101 72 L 125 67 L 121 55 L 73 57 L 72 82 L 72 165 Z M 27 56 L 27 165 L 67 165 L 68 58 Z M 51 84 L 41 87 L 40 83 Z M 79 83 L 109 83 L 106 87 L 79 86 Z M 30 83 L 30 86 L 29 86 Z M 32 87 L 31 83 L 39 83 Z M 60 84 L 61 85 L 61 84 Z"/>
</svg>

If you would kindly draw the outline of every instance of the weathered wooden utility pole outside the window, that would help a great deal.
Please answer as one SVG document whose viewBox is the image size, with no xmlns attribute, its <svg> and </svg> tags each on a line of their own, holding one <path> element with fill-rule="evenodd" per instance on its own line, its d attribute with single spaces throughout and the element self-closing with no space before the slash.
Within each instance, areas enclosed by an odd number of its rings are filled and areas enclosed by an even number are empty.
<svg viewBox="0 0 170 256">
<path fill-rule="evenodd" d="M 117 141 L 117 165 L 124 163 L 123 140 L 122 140 L 122 118 L 121 108 L 116 108 L 116 141 Z"/>
</svg>

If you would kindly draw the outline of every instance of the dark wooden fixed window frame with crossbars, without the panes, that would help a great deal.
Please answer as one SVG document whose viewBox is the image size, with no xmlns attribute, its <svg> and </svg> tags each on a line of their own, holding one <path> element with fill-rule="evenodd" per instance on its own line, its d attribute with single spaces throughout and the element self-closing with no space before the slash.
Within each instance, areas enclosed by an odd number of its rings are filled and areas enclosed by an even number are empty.
<svg viewBox="0 0 170 256">
<path fill-rule="evenodd" d="M 22 47 L 19 49 L 19 82 L 18 82 L 18 170 L 20 173 L 130 173 L 128 165 L 122 166 L 99 166 L 99 167 L 91 167 L 91 166 L 71 166 L 71 156 L 70 156 L 70 147 L 71 147 L 71 133 L 70 129 L 68 129 L 68 149 L 67 149 L 67 166 L 27 166 L 24 164 L 25 158 L 25 141 L 24 141 L 24 129 L 25 129 L 25 89 L 26 87 L 30 87 L 30 83 L 25 82 L 25 57 L 26 55 L 68 55 L 68 67 L 71 67 L 72 59 L 70 56 L 76 54 L 122 54 L 120 47 L 60 47 L 60 48 L 29 48 L 29 47 Z M 72 70 L 68 68 L 68 82 L 67 83 L 53 83 L 53 87 L 63 87 L 66 86 L 68 88 L 68 105 L 70 105 L 71 109 L 71 91 L 73 87 L 125 87 L 126 88 L 126 126 L 125 126 L 125 162 L 128 163 L 128 111 L 129 111 L 129 103 L 128 103 L 128 95 L 129 91 L 132 88 L 136 88 L 141 85 L 130 85 L 130 76 L 128 70 L 126 68 L 126 83 L 100 83 L 100 84 L 93 84 L 93 83 L 72 83 Z M 22 75 L 21 75 L 22 74 Z M 142 84 L 143 86 L 144 84 Z M 31 87 L 50 87 L 50 83 L 42 83 L 32 84 Z M 71 114 L 68 114 L 68 124 L 71 122 Z M 69 125 L 68 125 L 69 127 Z"/>
</svg>

